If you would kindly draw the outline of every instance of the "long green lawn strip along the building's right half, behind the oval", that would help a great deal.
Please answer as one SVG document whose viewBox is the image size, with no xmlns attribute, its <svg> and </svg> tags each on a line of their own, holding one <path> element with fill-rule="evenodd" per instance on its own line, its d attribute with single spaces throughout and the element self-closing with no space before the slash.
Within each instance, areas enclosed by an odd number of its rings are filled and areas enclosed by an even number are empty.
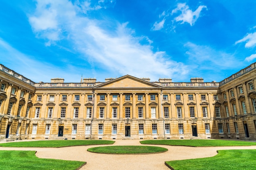
<svg viewBox="0 0 256 170">
<path fill-rule="evenodd" d="M 234 141 L 234 140 L 144 140 L 141 144 L 171 145 L 171 146 L 252 146 L 256 142 Z"/>
</svg>

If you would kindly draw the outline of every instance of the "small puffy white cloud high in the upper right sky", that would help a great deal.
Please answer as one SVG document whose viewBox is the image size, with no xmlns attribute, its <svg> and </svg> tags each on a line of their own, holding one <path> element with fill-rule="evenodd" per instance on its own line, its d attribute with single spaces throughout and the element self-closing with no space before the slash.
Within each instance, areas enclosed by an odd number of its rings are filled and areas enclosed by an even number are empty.
<svg viewBox="0 0 256 170">
<path fill-rule="evenodd" d="M 206 6 L 200 5 L 198 7 L 198 9 L 196 9 L 193 12 L 191 9 L 189 9 L 189 6 L 186 5 L 186 3 L 179 3 L 179 4 L 177 4 L 177 8 L 173 9 L 171 14 L 173 15 L 175 13 L 181 12 L 181 14 L 179 16 L 175 17 L 174 20 L 176 22 L 180 22 L 181 21 L 181 24 L 184 24 L 185 22 L 187 22 L 187 23 L 189 23 L 192 26 L 193 24 L 195 24 L 196 20 L 200 16 L 200 12 L 204 8 L 207 9 Z"/>
</svg>

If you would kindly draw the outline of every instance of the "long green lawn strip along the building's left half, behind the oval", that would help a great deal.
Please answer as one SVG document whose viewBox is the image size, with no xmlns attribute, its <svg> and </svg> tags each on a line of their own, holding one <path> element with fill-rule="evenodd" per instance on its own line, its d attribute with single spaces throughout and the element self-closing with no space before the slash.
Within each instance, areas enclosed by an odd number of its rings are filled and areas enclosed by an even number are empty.
<svg viewBox="0 0 256 170">
<path fill-rule="evenodd" d="M 40 140 L 29 142 L 10 142 L 0 144 L 2 147 L 38 147 L 38 148 L 60 148 L 67 146 L 103 145 L 114 144 L 110 140 Z"/>
</svg>

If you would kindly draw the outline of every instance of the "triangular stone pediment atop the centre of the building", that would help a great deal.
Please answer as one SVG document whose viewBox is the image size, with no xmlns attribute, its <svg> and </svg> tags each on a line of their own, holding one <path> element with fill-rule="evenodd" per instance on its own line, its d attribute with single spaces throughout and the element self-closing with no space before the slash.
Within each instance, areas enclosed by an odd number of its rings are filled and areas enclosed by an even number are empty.
<svg viewBox="0 0 256 170">
<path fill-rule="evenodd" d="M 161 88 L 159 85 L 150 83 L 149 81 L 142 80 L 130 75 L 115 78 L 106 83 L 95 86 L 94 88 Z"/>
</svg>

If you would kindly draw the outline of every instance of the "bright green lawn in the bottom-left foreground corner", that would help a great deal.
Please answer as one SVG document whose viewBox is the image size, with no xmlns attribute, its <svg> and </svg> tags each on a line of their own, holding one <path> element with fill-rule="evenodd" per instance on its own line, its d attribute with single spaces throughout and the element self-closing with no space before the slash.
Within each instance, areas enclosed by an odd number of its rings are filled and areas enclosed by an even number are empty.
<svg viewBox="0 0 256 170">
<path fill-rule="evenodd" d="M 1 170 L 76 170 L 85 162 L 40 159 L 36 151 L 0 150 Z"/>
</svg>

